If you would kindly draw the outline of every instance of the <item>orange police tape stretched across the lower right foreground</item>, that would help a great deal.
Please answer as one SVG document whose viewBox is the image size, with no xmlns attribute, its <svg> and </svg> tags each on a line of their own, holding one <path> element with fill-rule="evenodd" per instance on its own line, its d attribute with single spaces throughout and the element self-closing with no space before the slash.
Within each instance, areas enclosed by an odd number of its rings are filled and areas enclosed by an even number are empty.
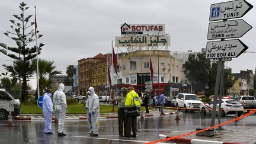
<svg viewBox="0 0 256 144">
<path fill-rule="evenodd" d="M 155 140 L 155 141 L 153 141 L 153 142 L 148 142 L 148 143 L 144 143 L 144 144 L 152 144 L 152 143 L 158 143 L 158 142 L 165 142 L 165 141 L 168 141 L 168 140 L 177 139 L 177 138 L 180 138 L 180 137 L 184 137 L 184 136 L 188 136 L 188 135 L 193 135 L 193 134 L 196 134 L 196 133 L 204 132 L 204 131 L 206 131 L 206 130 L 214 129 L 214 128 L 216 128 L 216 127 L 220 127 L 220 126 L 223 126 L 223 125 L 225 125 L 225 124 L 232 123 L 233 121 L 237 121 L 237 120 L 243 119 L 244 117 L 247 117 L 247 116 L 249 116 L 249 115 L 251 115 L 251 114 L 254 114 L 255 112 L 256 112 L 256 110 L 251 111 L 251 112 L 249 112 L 249 113 L 247 113 L 247 114 L 244 114 L 244 115 L 242 115 L 242 116 L 240 116 L 240 117 L 238 117 L 238 118 L 236 118 L 236 119 L 229 120 L 229 121 L 226 121 L 226 122 L 224 122 L 224 123 L 217 124 L 217 125 L 212 126 L 212 127 L 208 127 L 208 128 L 206 128 L 206 129 L 198 130 L 198 131 L 191 132 L 191 133 L 185 133 L 185 134 L 180 135 L 180 136 L 168 137 L 167 139 Z"/>
</svg>

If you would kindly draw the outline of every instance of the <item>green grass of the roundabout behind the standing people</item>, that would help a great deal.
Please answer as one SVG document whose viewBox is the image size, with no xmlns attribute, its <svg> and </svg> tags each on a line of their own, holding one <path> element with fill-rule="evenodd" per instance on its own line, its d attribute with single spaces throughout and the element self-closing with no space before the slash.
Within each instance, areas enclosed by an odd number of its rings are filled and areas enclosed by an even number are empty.
<svg viewBox="0 0 256 144">
<path fill-rule="evenodd" d="M 140 107 L 141 110 L 145 111 L 145 107 Z M 153 108 L 149 107 L 149 110 Z M 118 107 L 114 105 L 114 113 L 117 113 Z M 86 114 L 84 104 L 68 104 L 69 114 Z M 112 105 L 100 105 L 100 113 L 113 113 Z M 36 104 L 21 105 L 21 114 L 43 114 L 43 108 L 40 108 Z"/>
</svg>

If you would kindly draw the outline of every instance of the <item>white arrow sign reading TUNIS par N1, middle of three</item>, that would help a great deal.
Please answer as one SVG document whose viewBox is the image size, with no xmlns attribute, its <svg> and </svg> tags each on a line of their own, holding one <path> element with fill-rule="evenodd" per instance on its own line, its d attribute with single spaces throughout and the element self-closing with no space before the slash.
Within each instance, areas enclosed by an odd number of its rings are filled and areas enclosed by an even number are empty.
<svg viewBox="0 0 256 144">
<path fill-rule="evenodd" d="M 228 39 L 244 36 L 252 26 L 244 20 L 223 21 L 217 23 L 209 23 L 208 40 Z"/>
</svg>

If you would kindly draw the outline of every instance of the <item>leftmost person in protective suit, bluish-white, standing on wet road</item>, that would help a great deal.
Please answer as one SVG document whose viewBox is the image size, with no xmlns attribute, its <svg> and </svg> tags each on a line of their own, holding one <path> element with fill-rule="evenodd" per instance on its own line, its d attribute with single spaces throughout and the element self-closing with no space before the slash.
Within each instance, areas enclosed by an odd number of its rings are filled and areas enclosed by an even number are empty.
<svg viewBox="0 0 256 144">
<path fill-rule="evenodd" d="M 43 95 L 43 115 L 44 115 L 44 133 L 52 134 L 52 114 L 53 114 L 53 103 L 50 89 L 46 90 Z"/>
</svg>

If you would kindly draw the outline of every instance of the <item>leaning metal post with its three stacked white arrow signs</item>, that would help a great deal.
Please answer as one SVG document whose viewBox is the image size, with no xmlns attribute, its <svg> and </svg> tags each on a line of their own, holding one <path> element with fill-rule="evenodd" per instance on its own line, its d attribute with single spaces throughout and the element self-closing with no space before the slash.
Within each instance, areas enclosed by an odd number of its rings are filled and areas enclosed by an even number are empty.
<svg viewBox="0 0 256 144">
<path fill-rule="evenodd" d="M 207 36 L 208 40 L 221 39 L 221 41 L 209 41 L 206 45 L 206 59 L 219 59 L 215 83 L 215 97 L 213 99 L 211 127 L 215 126 L 217 95 L 219 93 L 219 88 L 222 87 L 222 85 L 220 86 L 220 83 L 223 83 L 223 78 L 220 79 L 220 75 L 223 72 L 225 60 L 222 59 L 238 57 L 248 49 L 241 40 L 236 39 L 225 41 L 225 39 L 242 37 L 252 28 L 251 25 L 246 23 L 244 20 L 227 20 L 243 17 L 252 8 L 253 6 L 245 0 L 222 2 L 212 4 L 210 7 L 209 21 L 223 20 L 221 22 L 209 23 Z M 220 95 L 220 97 L 221 96 L 222 95 Z M 219 105 L 221 105 L 221 101 Z M 213 133 L 206 133 L 204 136 L 213 136 Z"/>
</svg>

